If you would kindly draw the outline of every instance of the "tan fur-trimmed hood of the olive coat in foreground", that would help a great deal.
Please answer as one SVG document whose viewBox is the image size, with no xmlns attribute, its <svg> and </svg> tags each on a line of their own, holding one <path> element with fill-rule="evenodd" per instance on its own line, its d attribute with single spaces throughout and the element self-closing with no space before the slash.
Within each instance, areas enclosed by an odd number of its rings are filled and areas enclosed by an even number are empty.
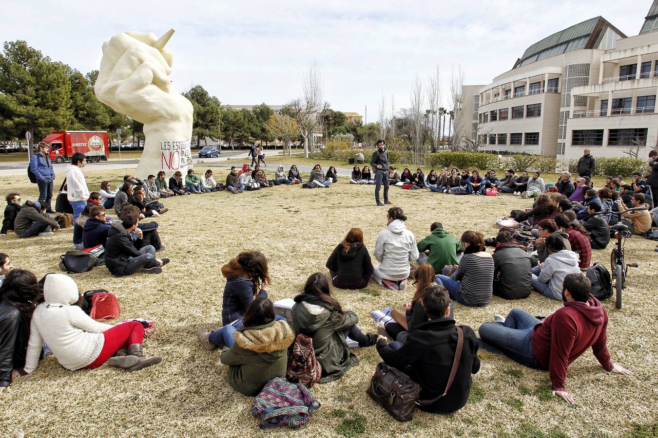
<svg viewBox="0 0 658 438">
<path fill-rule="evenodd" d="M 272 353 L 288 349 L 295 334 L 286 321 L 273 320 L 263 326 L 243 328 L 235 334 L 241 349 L 254 353 Z"/>
</svg>

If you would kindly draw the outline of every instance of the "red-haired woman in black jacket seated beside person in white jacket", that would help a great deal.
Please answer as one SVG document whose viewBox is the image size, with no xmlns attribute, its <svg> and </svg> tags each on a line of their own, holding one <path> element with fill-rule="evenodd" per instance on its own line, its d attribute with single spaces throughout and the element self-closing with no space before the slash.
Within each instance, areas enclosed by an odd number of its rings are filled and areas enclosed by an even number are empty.
<svg viewBox="0 0 658 438">
<path fill-rule="evenodd" d="M 372 276 L 372 262 L 360 228 L 347 232 L 327 259 L 326 267 L 336 288 L 363 289 L 367 286 Z"/>
</svg>

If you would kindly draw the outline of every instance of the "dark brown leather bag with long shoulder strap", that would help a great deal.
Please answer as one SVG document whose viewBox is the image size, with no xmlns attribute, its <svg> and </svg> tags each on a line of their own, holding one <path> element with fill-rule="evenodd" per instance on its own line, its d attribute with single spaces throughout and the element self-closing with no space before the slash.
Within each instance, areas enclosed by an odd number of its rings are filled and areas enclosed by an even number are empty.
<svg viewBox="0 0 658 438">
<path fill-rule="evenodd" d="M 407 374 L 388 366 L 384 362 L 377 364 L 377 369 L 370 380 L 367 393 L 374 401 L 382 405 L 389 414 L 399 422 L 408 422 L 413 418 L 416 406 L 431 405 L 448 393 L 455 380 L 457 367 L 461 359 L 461 351 L 464 347 L 464 332 L 457 326 L 457 348 L 455 359 L 448 382 L 443 394 L 432 400 L 418 400 L 420 397 L 420 385 L 414 382 Z"/>
</svg>

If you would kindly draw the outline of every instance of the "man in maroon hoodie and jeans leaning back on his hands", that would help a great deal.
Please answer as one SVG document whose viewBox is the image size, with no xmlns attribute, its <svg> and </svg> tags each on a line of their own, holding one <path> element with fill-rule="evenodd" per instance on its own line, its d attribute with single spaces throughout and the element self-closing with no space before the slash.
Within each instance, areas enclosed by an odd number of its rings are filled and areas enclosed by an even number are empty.
<svg viewBox="0 0 658 438">
<path fill-rule="evenodd" d="M 590 295 L 591 287 L 586 276 L 568 274 L 562 286 L 565 304 L 561 309 L 543 321 L 522 309 L 513 309 L 507 318 L 495 315 L 496 322 L 485 322 L 478 329 L 480 338 L 520 364 L 548 370 L 553 395 L 572 405 L 574 399 L 565 389 L 567 367 L 590 347 L 606 371 L 633 375 L 610 361 L 608 315 L 601 302 Z"/>
</svg>

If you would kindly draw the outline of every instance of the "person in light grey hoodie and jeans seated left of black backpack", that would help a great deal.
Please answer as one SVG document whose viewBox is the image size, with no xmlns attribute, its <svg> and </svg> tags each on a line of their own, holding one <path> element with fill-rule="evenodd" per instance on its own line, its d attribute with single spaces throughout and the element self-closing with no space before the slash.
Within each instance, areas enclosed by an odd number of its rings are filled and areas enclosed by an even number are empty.
<svg viewBox="0 0 658 438">
<path fill-rule="evenodd" d="M 532 287 L 545 297 L 557 299 L 562 297 L 562 283 L 567 274 L 579 274 L 578 254 L 565 250 L 563 240 L 555 234 L 549 235 L 545 242 L 548 254 L 544 263 L 532 269 Z"/>
</svg>

